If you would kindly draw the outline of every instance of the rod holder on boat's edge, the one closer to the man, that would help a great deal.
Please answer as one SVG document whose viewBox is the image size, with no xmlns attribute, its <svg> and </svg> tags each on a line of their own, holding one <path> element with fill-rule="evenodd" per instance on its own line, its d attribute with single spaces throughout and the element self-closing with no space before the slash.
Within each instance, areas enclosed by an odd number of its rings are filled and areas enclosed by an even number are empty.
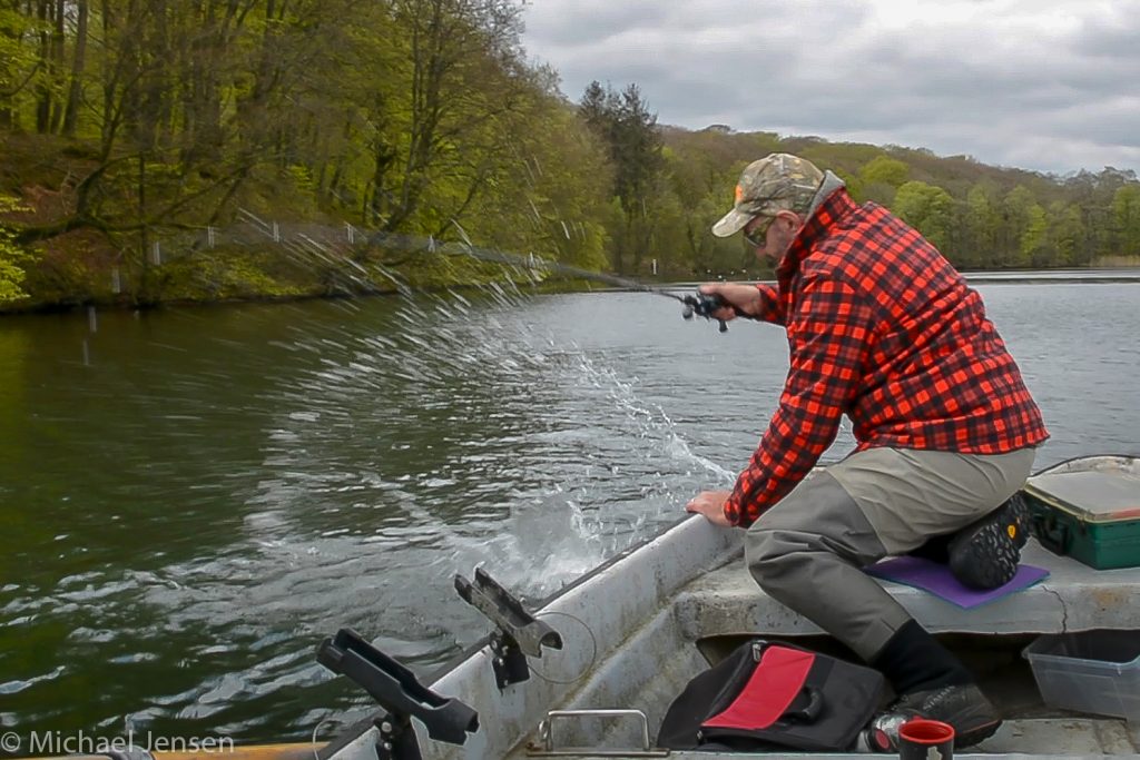
<svg viewBox="0 0 1140 760">
<path fill-rule="evenodd" d="M 522 602 L 499 586 L 482 567 L 475 567 L 474 582 L 455 577 L 455 590 L 463 600 L 487 615 L 498 627 L 490 635 L 491 667 L 499 689 L 530 678 L 527 656 L 542 657 L 543 647 L 562 648 L 562 637 L 540 620 L 535 620 Z"/>
</svg>

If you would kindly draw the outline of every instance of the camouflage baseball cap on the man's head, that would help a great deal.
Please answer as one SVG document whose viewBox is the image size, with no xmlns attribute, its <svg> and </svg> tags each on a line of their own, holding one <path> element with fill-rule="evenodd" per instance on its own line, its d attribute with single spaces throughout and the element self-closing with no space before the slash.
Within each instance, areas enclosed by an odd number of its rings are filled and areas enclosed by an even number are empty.
<svg viewBox="0 0 1140 760">
<path fill-rule="evenodd" d="M 736 203 L 712 226 L 717 237 L 728 237 L 763 213 L 781 210 L 806 212 L 823 182 L 823 172 L 807 158 L 773 153 L 744 166 L 736 183 Z"/>
</svg>

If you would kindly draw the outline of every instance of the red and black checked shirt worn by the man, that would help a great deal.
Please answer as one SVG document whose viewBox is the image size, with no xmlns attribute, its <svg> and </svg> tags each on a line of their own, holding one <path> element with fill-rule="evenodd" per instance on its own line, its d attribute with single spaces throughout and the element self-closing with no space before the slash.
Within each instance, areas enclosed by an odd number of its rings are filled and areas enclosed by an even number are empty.
<svg viewBox="0 0 1140 760">
<path fill-rule="evenodd" d="M 725 515 L 751 524 L 812 469 L 844 414 L 858 449 L 1004 453 L 1049 434 L 978 294 L 914 229 L 833 193 L 759 285 L 791 368 Z"/>
</svg>

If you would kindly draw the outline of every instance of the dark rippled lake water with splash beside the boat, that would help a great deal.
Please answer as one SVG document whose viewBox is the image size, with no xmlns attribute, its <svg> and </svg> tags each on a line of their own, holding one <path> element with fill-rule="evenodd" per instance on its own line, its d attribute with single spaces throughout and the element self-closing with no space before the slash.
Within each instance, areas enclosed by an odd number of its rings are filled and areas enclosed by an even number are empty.
<svg viewBox="0 0 1140 760">
<path fill-rule="evenodd" d="M 1037 467 L 1140 450 L 1140 284 L 977 287 Z M 455 573 L 538 598 L 731 488 L 787 368 L 644 293 L 3 318 L 0 727 L 327 734 L 323 637 L 430 671 L 487 632 Z"/>
</svg>

